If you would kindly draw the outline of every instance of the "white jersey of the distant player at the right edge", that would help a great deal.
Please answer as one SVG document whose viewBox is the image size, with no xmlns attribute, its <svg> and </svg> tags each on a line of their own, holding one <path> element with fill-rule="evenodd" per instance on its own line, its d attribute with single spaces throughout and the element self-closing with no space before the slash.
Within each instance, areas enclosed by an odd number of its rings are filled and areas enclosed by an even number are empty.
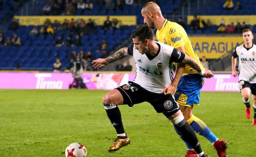
<svg viewBox="0 0 256 157">
<path fill-rule="evenodd" d="M 233 57 L 239 57 L 238 80 L 256 83 L 256 45 L 245 48 L 244 44 L 237 46 Z"/>
</svg>

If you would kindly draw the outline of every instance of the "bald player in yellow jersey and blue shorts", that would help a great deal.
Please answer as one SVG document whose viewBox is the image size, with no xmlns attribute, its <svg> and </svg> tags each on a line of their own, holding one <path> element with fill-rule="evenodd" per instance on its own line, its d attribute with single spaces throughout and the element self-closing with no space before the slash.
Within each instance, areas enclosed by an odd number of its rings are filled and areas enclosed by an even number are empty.
<svg viewBox="0 0 256 157">
<path fill-rule="evenodd" d="M 187 37 L 187 33 L 181 25 L 165 19 L 162 16 L 160 7 L 154 2 L 146 3 L 141 13 L 144 18 L 144 23 L 152 29 L 157 29 L 156 37 L 159 42 L 173 46 L 181 52 L 185 52 L 186 55 L 192 57 L 198 64 L 200 64 L 203 69 L 201 62 L 197 54 L 194 52 L 189 38 Z M 180 81 L 176 82 L 176 87 L 172 90 L 165 88 L 163 92 L 165 94 L 175 93 L 175 100 L 179 103 L 180 109 L 187 120 L 187 123 L 190 124 L 195 132 L 202 135 L 213 144 L 219 157 L 226 157 L 227 142 L 219 140 L 201 119 L 192 114 L 193 106 L 199 105 L 199 94 L 204 83 L 204 78 L 190 66 L 184 66 L 185 69 L 183 68 L 183 75 L 181 76 Z M 201 73 L 204 73 L 204 71 Z M 174 81 L 175 80 L 178 79 L 174 79 Z M 175 130 L 179 135 L 181 135 L 177 129 Z M 187 143 L 186 145 L 187 153 L 185 157 L 197 157 L 196 152 L 192 147 Z"/>
</svg>

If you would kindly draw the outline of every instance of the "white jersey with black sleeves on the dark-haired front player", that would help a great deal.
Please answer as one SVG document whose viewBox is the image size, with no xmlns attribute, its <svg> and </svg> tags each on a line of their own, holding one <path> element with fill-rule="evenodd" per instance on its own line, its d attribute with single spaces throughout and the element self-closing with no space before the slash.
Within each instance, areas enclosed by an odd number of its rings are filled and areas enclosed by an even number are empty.
<svg viewBox="0 0 256 157">
<path fill-rule="evenodd" d="M 159 46 L 155 56 L 139 53 L 134 44 L 128 47 L 128 53 L 133 55 L 136 64 L 134 83 L 139 84 L 147 91 L 162 93 L 162 90 L 171 84 L 174 79 L 172 62 L 181 62 L 185 54 L 172 46 L 156 42 Z"/>
</svg>

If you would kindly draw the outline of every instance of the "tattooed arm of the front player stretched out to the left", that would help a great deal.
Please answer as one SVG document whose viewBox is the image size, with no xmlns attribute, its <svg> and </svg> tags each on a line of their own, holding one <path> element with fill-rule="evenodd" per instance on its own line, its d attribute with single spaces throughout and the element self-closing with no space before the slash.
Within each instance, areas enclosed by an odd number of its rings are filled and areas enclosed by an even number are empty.
<svg viewBox="0 0 256 157">
<path fill-rule="evenodd" d="M 116 51 L 115 53 L 113 53 L 112 55 L 106 57 L 106 58 L 98 58 L 96 60 L 92 60 L 91 64 L 94 68 L 101 68 L 107 64 L 110 64 L 116 60 L 120 60 L 126 56 L 128 56 L 128 48 L 127 47 L 123 47 L 121 49 L 119 49 L 118 51 Z"/>
</svg>

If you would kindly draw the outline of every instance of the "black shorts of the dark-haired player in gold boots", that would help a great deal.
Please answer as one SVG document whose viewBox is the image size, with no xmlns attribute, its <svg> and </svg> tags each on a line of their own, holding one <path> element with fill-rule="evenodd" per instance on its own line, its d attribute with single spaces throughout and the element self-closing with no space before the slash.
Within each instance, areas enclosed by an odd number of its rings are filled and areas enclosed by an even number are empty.
<svg viewBox="0 0 256 157">
<path fill-rule="evenodd" d="M 133 107 L 134 104 L 149 102 L 158 113 L 168 113 L 168 115 L 173 115 L 179 111 L 178 103 L 175 101 L 173 95 L 153 93 L 134 82 L 128 82 L 128 84 L 119 86 L 116 89 L 120 91 L 123 96 L 123 104 L 128 104 L 130 107 Z"/>
</svg>

